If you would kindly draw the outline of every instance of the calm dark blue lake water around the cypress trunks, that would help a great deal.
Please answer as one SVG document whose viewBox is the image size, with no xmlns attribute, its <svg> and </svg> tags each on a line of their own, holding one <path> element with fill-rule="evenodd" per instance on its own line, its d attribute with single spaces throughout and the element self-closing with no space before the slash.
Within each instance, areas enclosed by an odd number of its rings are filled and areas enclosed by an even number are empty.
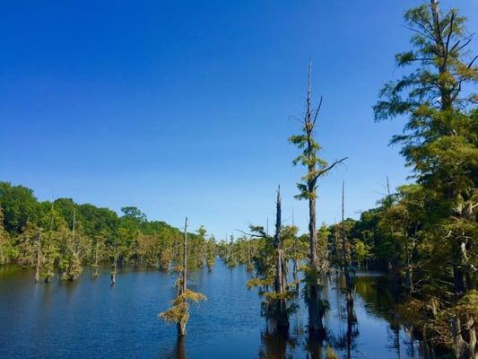
<svg viewBox="0 0 478 359">
<path fill-rule="evenodd" d="M 385 278 L 357 278 L 357 323 L 348 326 L 339 278 L 329 278 L 324 295 L 331 303 L 327 338 L 308 340 L 306 308 L 291 318 L 289 337 L 275 337 L 260 317 L 260 298 L 248 291 L 250 274 L 216 261 L 213 272 L 191 275 L 191 289 L 207 302 L 193 305 L 187 337 L 158 320 L 173 297 L 174 276 L 123 270 L 109 285 L 108 268 L 97 280 L 84 272 L 77 282 L 35 285 L 33 274 L 0 267 L 0 358 L 324 358 L 328 343 L 341 358 L 421 358 L 391 311 Z"/>
</svg>

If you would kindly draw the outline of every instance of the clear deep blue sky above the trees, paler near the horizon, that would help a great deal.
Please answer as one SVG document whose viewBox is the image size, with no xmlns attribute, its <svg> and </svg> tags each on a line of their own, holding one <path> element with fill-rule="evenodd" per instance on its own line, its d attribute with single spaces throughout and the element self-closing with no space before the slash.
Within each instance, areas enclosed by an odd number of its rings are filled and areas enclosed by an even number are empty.
<svg viewBox="0 0 478 359">
<path fill-rule="evenodd" d="M 138 206 L 149 219 L 216 236 L 283 216 L 303 173 L 300 130 L 309 57 L 323 157 L 349 156 L 320 182 L 319 222 L 358 217 L 405 182 L 403 123 L 373 121 L 378 90 L 402 74 L 404 10 L 415 0 L 0 2 L 0 180 L 39 199 Z M 478 31 L 476 0 L 443 0 Z M 477 48 L 477 40 L 473 48 Z"/>
</svg>

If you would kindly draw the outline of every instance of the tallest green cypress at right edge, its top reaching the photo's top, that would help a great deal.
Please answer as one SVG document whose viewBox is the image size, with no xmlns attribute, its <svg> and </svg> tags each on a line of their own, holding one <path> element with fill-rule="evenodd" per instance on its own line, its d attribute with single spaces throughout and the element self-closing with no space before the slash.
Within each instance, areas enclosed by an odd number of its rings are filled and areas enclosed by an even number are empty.
<svg viewBox="0 0 478 359">
<path fill-rule="evenodd" d="M 473 36 L 465 31 L 465 17 L 456 9 L 440 12 L 438 3 L 430 0 L 405 13 L 413 49 L 395 58 L 398 66 L 413 71 L 387 83 L 374 110 L 376 120 L 408 118 L 404 133 L 391 143 L 402 144 L 406 164 L 426 193 L 421 227 L 428 253 L 422 268 L 430 275 L 420 288 L 415 285 L 417 299 L 434 303 L 435 321 L 439 310 L 454 313 L 448 323 L 455 356 L 475 358 L 476 325 L 453 309 L 469 298 L 477 280 L 478 96 L 470 90 L 478 79 L 478 56 L 469 57 Z"/>
</svg>

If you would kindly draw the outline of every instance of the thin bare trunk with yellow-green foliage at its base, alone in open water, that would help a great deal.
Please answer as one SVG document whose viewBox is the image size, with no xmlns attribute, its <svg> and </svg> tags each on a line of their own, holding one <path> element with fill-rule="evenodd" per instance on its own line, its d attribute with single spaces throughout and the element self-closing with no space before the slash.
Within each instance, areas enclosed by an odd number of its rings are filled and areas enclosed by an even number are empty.
<svg viewBox="0 0 478 359">
<path fill-rule="evenodd" d="M 184 223 L 182 264 L 178 265 L 177 271 L 176 288 L 178 294 L 171 302 L 169 310 L 161 312 L 159 317 L 168 323 L 176 323 L 178 337 L 183 337 L 186 335 L 186 325 L 187 320 L 189 320 L 189 302 L 199 302 L 206 299 L 204 294 L 187 289 L 187 217 Z"/>
</svg>

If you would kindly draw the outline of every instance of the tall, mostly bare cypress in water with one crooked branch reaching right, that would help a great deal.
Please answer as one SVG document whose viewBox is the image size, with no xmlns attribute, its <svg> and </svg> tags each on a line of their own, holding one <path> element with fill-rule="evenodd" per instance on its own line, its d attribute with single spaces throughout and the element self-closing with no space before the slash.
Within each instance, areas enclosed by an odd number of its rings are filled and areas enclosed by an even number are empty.
<svg viewBox="0 0 478 359">
<path fill-rule="evenodd" d="M 300 135 L 289 137 L 289 142 L 295 144 L 300 150 L 302 150 L 302 153 L 300 153 L 292 163 L 294 165 L 300 163 L 307 168 L 307 173 L 302 176 L 302 181 L 297 185 L 300 194 L 297 195 L 296 198 L 307 199 L 309 201 L 309 267 L 305 270 L 305 282 L 307 285 L 306 298 L 309 306 L 309 331 L 314 332 L 323 328 L 322 318 L 325 313 L 325 306 L 320 298 L 320 276 L 324 273 L 322 270 L 323 263 L 319 263 L 317 258 L 317 180 L 326 175 L 328 171 L 332 170 L 336 164 L 345 161 L 346 157 L 328 165 L 326 161 L 319 158 L 317 155 L 320 151 L 320 145 L 315 139 L 315 127 L 318 112 L 322 105 L 322 98 L 320 98 L 317 109 L 314 111 L 311 108 L 310 102 L 311 70 L 312 66 L 310 64 L 306 112 L 304 118 L 300 119 L 302 133 Z"/>
</svg>

